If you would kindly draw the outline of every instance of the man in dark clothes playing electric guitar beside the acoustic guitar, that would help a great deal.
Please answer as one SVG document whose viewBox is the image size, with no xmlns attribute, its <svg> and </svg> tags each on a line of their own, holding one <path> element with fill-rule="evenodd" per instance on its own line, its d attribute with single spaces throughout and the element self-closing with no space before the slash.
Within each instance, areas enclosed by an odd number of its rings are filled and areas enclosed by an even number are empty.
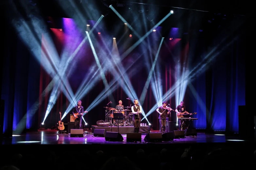
<svg viewBox="0 0 256 170">
<path fill-rule="evenodd" d="M 82 127 L 82 116 L 84 113 L 87 113 L 88 111 L 84 111 L 84 107 L 82 106 L 82 101 L 79 100 L 77 102 L 77 106 L 73 108 L 72 114 L 74 122 L 74 129 L 81 129 Z"/>
</svg>

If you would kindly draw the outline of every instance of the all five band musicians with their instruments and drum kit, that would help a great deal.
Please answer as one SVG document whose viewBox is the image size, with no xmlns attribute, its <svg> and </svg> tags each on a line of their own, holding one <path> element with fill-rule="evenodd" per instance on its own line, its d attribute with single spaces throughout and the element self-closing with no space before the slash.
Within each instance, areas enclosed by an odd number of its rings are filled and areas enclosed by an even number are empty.
<svg viewBox="0 0 256 170">
<path fill-rule="evenodd" d="M 128 100 L 132 99 L 130 97 L 127 98 Z M 83 107 L 81 105 L 81 101 L 79 100 L 77 103 L 77 106 L 73 109 L 73 119 L 75 120 L 75 128 L 79 129 L 81 128 L 81 116 L 83 113 L 87 113 L 87 111 L 83 111 Z M 109 104 L 112 104 L 112 101 L 110 101 L 105 108 L 105 121 L 101 122 L 102 126 L 134 126 L 134 133 L 139 133 L 140 126 L 144 126 L 144 123 L 142 125 L 141 119 L 142 119 L 142 106 L 139 105 L 139 101 L 137 99 L 133 100 L 134 105 L 133 106 L 127 106 L 125 107 L 123 105 L 122 100 L 118 101 L 118 105 L 116 105 L 115 108 L 109 107 Z M 191 120 L 197 120 L 197 118 L 191 118 L 190 116 L 194 113 L 189 113 L 186 111 L 184 102 L 180 102 L 180 105 L 177 106 L 176 110 L 173 110 L 170 108 L 170 104 L 168 104 L 164 101 L 162 102 L 162 106 L 157 107 L 156 112 L 159 113 L 159 115 L 156 116 L 156 119 L 159 119 L 159 127 L 161 130 L 161 133 L 166 133 L 166 118 L 167 115 L 171 116 L 171 111 L 177 112 L 177 120 L 179 122 L 179 130 L 186 130 Z M 115 114 L 116 113 L 116 114 Z M 114 115 L 121 115 L 117 113 L 122 113 L 123 116 L 115 117 Z M 98 125 L 98 124 L 97 124 Z M 145 123 L 146 126 L 146 123 Z M 178 129 L 177 129 L 178 130 Z"/>
</svg>

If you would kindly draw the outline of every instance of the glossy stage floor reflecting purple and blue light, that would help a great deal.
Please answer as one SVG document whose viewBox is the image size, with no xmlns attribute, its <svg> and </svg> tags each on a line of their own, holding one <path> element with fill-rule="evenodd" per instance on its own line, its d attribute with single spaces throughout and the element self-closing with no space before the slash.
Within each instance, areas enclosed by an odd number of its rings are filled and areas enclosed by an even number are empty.
<svg viewBox="0 0 256 170">
<path fill-rule="evenodd" d="M 107 127 L 108 128 L 108 127 Z M 116 127 L 117 128 L 117 127 Z M 119 127 L 119 131 L 122 127 Z M 132 127 L 133 128 L 133 127 Z M 150 133 L 158 133 L 159 131 L 150 131 Z M 3 137 L 2 145 L 9 144 L 128 144 L 134 142 L 126 141 L 126 134 L 122 134 L 124 140 L 122 142 L 106 141 L 105 137 L 96 137 L 91 131 L 84 130 L 84 137 L 69 137 L 68 134 L 58 134 L 58 130 L 38 130 L 38 132 L 26 132 L 26 134 L 13 135 L 12 137 Z M 144 141 L 146 133 L 142 133 L 141 143 L 145 144 Z M 205 134 L 197 132 L 197 136 L 185 136 L 185 138 L 173 139 L 167 142 L 157 142 L 157 144 L 179 144 L 179 143 L 244 143 L 250 142 L 242 140 L 238 136 L 226 136 L 222 134 Z M 255 142 L 255 141 L 254 141 Z"/>
</svg>

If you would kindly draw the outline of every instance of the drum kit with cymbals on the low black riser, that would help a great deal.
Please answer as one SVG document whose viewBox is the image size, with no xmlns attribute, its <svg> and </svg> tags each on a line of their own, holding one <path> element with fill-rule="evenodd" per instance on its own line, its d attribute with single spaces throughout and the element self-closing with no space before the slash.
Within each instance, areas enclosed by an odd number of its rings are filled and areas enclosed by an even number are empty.
<svg viewBox="0 0 256 170">
<path fill-rule="evenodd" d="M 113 107 L 104 107 L 106 108 L 106 121 L 109 122 L 112 126 L 133 126 L 132 121 L 132 114 L 129 114 L 128 110 L 130 107 L 125 107 L 127 109 L 124 110 L 116 110 Z M 114 119 L 114 113 L 122 113 L 124 116 L 124 119 L 122 120 L 115 120 Z"/>
</svg>

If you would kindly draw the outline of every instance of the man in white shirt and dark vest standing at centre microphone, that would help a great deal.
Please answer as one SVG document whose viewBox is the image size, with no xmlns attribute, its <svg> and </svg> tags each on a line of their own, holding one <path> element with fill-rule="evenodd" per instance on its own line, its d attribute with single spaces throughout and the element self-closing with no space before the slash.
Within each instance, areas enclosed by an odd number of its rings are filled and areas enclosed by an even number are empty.
<svg viewBox="0 0 256 170">
<path fill-rule="evenodd" d="M 141 123 L 141 113 L 142 108 L 139 106 L 139 102 L 137 99 L 133 101 L 134 105 L 131 107 L 131 111 L 133 113 L 133 125 L 134 125 L 134 133 L 140 132 L 140 123 Z"/>
</svg>

